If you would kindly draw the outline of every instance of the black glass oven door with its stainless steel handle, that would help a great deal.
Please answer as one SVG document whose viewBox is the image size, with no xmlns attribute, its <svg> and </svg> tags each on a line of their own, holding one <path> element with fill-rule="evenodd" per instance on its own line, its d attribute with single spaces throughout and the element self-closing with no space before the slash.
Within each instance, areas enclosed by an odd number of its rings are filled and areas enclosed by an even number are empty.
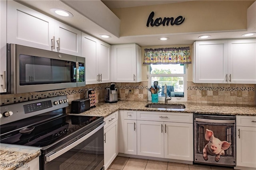
<svg viewBox="0 0 256 170">
<path fill-rule="evenodd" d="M 90 133 L 72 139 L 41 155 L 41 170 L 102 170 L 104 166 L 104 123 Z"/>
</svg>

